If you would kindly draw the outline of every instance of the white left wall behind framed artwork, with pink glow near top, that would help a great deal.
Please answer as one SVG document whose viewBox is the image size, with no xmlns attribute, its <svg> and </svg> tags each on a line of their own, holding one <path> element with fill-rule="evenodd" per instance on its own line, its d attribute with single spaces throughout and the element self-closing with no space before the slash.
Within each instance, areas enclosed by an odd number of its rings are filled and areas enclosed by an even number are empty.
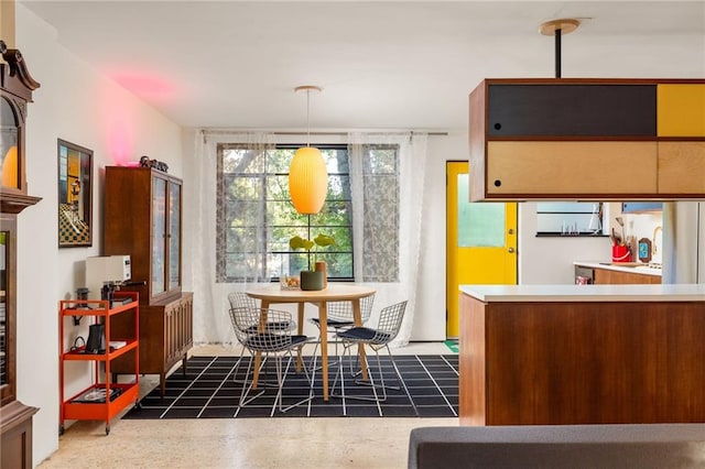
<svg viewBox="0 0 705 469">
<path fill-rule="evenodd" d="M 22 4 L 17 6 L 17 46 L 41 83 L 28 106 L 26 175 L 29 194 L 42 200 L 19 216 L 17 340 L 18 397 L 40 408 L 33 419 L 39 463 L 58 447 L 58 301 L 75 297 L 85 284 L 84 260 L 101 253 L 104 168 L 147 154 L 181 175 L 182 143 L 177 126 L 84 65 Z M 94 151 L 91 248 L 57 248 L 59 138 Z M 69 326 L 67 339 L 79 331 Z M 87 381 L 77 370 L 67 385 L 79 389 Z"/>
</svg>

